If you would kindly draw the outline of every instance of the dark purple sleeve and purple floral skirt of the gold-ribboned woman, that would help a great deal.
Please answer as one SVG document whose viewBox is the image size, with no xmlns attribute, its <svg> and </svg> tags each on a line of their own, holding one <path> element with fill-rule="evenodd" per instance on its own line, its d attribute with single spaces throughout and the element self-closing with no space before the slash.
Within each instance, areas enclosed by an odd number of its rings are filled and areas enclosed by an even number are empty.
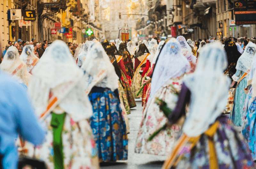
<svg viewBox="0 0 256 169">
<path fill-rule="evenodd" d="M 176 122 L 185 114 L 185 105 L 189 102 L 190 91 L 185 84 L 182 85 L 179 100 L 172 115 L 169 117 L 171 123 Z M 209 169 L 209 139 L 214 143 L 215 154 L 219 169 L 251 169 L 256 168 L 248 145 L 244 138 L 237 133 L 232 124 L 225 116 L 219 116 L 218 128 L 212 137 L 202 134 L 196 145 L 188 150 L 188 143 L 182 146 L 179 156 L 183 156 L 175 169 Z M 184 151 L 186 150 L 186 151 Z"/>
</svg>

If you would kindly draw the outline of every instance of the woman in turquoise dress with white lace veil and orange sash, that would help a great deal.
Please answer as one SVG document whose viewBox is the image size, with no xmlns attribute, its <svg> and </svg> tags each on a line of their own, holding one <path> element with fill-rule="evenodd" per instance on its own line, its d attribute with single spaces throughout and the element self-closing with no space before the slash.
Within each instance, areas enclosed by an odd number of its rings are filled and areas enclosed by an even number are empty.
<svg viewBox="0 0 256 169">
<path fill-rule="evenodd" d="M 236 85 L 234 93 L 234 105 L 230 114 L 230 119 L 235 126 L 242 125 L 242 112 L 246 93 L 244 89 L 247 87 L 247 74 L 251 69 L 251 64 L 256 52 L 256 45 L 249 42 L 246 46 L 244 53 L 239 57 L 236 64 L 236 73 L 232 76 L 233 82 L 231 87 Z"/>
</svg>

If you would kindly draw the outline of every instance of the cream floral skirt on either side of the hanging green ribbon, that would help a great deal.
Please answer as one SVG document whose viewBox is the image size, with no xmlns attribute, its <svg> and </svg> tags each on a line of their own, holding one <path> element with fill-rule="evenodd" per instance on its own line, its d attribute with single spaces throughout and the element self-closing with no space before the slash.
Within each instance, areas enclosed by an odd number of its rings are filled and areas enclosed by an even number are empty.
<svg viewBox="0 0 256 169">
<path fill-rule="evenodd" d="M 26 143 L 28 156 L 43 160 L 49 169 L 54 169 L 52 114 L 44 120 L 47 134 L 42 145 L 34 150 L 33 145 Z M 66 114 L 62 130 L 62 146 L 65 169 L 98 169 L 97 148 L 92 129 L 87 120 L 74 122 Z"/>
</svg>

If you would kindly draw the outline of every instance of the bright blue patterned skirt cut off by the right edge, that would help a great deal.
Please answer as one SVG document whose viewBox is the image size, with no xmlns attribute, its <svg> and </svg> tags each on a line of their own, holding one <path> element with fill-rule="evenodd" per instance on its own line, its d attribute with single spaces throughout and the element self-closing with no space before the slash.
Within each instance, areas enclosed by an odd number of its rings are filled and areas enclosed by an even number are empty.
<svg viewBox="0 0 256 169">
<path fill-rule="evenodd" d="M 253 99 L 247 111 L 242 134 L 248 142 L 253 160 L 256 160 L 256 98 Z"/>
</svg>

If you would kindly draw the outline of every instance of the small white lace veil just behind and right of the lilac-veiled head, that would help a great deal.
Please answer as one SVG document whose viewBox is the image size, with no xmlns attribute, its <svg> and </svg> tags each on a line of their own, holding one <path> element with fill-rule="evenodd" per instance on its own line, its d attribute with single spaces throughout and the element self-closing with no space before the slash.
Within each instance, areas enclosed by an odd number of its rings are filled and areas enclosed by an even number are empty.
<svg viewBox="0 0 256 169">
<path fill-rule="evenodd" d="M 181 53 L 188 59 L 189 62 L 196 63 L 196 57 L 193 55 L 192 49 L 188 45 L 186 39 L 183 36 L 178 36 L 176 40 L 180 42 Z"/>
</svg>

